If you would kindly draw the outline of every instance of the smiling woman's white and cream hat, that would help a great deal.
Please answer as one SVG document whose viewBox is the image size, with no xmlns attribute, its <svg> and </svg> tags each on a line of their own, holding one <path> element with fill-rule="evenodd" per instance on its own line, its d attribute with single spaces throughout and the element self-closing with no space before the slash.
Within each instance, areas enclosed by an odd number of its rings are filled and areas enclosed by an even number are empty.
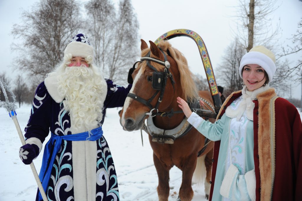
<svg viewBox="0 0 302 201">
<path fill-rule="evenodd" d="M 262 45 L 255 46 L 242 57 L 239 66 L 239 75 L 242 78 L 241 72 L 243 66 L 248 64 L 258 64 L 267 73 L 268 83 L 270 83 L 276 72 L 275 61 L 275 55 L 271 50 L 266 49 L 266 47 Z"/>
</svg>

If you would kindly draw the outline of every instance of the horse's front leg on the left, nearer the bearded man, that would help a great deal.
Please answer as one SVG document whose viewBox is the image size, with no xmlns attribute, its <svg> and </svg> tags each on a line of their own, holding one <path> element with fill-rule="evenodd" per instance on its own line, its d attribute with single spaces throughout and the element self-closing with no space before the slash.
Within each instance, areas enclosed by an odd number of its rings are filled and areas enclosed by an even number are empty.
<svg viewBox="0 0 302 201">
<path fill-rule="evenodd" d="M 157 194 L 159 201 L 168 201 L 169 187 L 169 168 L 164 167 L 162 162 L 153 153 L 154 166 L 158 175 Z"/>
</svg>

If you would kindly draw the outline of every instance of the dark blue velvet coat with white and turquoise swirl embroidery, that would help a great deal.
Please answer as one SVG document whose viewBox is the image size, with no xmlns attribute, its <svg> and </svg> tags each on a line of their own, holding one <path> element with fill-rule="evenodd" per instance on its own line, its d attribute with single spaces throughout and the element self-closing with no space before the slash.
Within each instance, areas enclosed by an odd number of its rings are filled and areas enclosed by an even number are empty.
<svg viewBox="0 0 302 201">
<path fill-rule="evenodd" d="M 107 95 L 104 101 L 103 119 L 101 124 L 104 122 L 106 108 L 122 107 L 132 86 L 128 85 L 127 88 L 117 86 L 109 79 L 106 80 L 106 83 Z M 44 82 L 42 82 L 37 87 L 31 108 L 31 116 L 25 128 L 26 142 L 31 144 L 38 142 L 36 144 L 41 149 L 42 143 L 45 141 L 49 131 L 54 135 L 71 135 L 70 127 L 69 113 L 64 109 L 63 102 L 55 102 L 47 91 Z M 104 136 L 99 140 L 90 143 L 95 143 L 97 147 L 97 150 L 95 150 L 97 157 L 95 158 L 95 162 L 92 163 L 97 166 L 96 192 L 91 193 L 92 199 L 94 200 L 95 198 L 95 200 L 103 201 L 119 200 L 115 168 L 111 152 Z M 87 149 L 89 149 L 89 146 Z M 61 148 L 52 167 L 51 177 L 46 192 L 49 200 L 75 200 L 74 185 L 76 185 L 76 183 L 73 182 L 73 164 L 76 164 L 76 161 L 73 161 L 72 153 L 72 141 L 62 140 Z M 87 163 L 86 168 L 88 171 L 91 163 L 88 164 L 88 161 L 77 161 L 77 163 L 85 162 Z M 92 170 L 95 170 L 95 167 L 92 168 Z M 85 175 L 83 178 L 86 178 Z M 90 188 L 88 184 L 87 189 L 84 190 L 84 192 L 89 194 L 89 191 Z M 87 197 L 89 199 L 89 195 Z M 36 200 L 38 200 L 38 196 Z"/>
</svg>

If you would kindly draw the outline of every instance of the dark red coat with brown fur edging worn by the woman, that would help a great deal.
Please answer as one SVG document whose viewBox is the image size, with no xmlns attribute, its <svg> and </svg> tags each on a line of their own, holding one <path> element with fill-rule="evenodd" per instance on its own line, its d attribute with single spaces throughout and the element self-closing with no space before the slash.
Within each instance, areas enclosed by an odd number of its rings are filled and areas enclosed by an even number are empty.
<svg viewBox="0 0 302 201">
<path fill-rule="evenodd" d="M 233 92 L 217 116 L 239 96 Z M 302 123 L 296 107 L 270 88 L 253 100 L 256 201 L 302 200 Z M 212 199 L 220 141 L 214 143 Z"/>
</svg>

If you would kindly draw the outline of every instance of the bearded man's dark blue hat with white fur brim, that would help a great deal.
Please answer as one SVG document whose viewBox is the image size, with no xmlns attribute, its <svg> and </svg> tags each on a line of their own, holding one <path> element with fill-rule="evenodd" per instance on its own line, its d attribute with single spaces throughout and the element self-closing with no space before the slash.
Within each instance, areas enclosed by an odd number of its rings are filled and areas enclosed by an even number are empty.
<svg viewBox="0 0 302 201">
<path fill-rule="evenodd" d="M 68 53 L 72 54 L 72 57 L 87 57 L 91 55 L 93 57 L 93 47 L 84 34 L 77 34 L 72 38 L 64 51 L 64 56 Z"/>
</svg>

